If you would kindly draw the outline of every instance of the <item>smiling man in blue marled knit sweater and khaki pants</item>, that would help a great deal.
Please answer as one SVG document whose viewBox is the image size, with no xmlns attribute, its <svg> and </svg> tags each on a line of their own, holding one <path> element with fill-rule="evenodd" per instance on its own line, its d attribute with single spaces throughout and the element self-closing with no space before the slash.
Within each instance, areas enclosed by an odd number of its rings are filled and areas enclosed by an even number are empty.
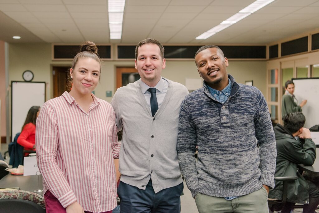
<svg viewBox="0 0 319 213">
<path fill-rule="evenodd" d="M 201 47 L 195 62 L 204 87 L 182 102 L 177 153 L 197 209 L 266 213 L 276 167 L 266 100 L 256 87 L 227 74 L 228 60 L 219 47 Z"/>
</svg>

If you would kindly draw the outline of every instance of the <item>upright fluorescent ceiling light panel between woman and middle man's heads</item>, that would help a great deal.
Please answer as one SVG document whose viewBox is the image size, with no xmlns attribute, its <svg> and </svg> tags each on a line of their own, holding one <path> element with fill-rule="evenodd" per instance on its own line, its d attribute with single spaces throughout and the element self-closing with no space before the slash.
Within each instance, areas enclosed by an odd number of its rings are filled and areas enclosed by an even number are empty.
<svg viewBox="0 0 319 213">
<path fill-rule="evenodd" d="M 110 39 L 121 39 L 125 0 L 108 0 Z"/>
</svg>

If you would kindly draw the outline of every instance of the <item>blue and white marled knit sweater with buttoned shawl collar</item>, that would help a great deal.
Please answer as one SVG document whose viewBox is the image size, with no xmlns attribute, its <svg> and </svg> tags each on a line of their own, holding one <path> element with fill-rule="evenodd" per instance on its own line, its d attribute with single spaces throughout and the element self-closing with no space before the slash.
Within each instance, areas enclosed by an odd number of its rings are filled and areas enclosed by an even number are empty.
<svg viewBox="0 0 319 213">
<path fill-rule="evenodd" d="M 274 187 L 276 142 L 266 100 L 256 87 L 228 77 L 232 92 L 224 105 L 210 94 L 205 82 L 181 105 L 177 152 L 193 197 L 197 192 L 241 196 L 263 184 Z"/>
</svg>

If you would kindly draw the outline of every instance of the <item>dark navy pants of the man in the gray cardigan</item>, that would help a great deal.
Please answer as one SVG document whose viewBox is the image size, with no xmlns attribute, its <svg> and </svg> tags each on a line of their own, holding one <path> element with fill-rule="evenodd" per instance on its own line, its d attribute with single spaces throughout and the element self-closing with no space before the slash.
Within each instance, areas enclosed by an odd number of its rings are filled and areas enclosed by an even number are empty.
<svg viewBox="0 0 319 213">
<path fill-rule="evenodd" d="M 152 180 L 146 189 L 139 189 L 136 186 L 120 182 L 117 194 L 120 198 L 121 213 L 180 213 L 181 194 L 184 184 L 163 189 L 155 194 Z"/>
</svg>

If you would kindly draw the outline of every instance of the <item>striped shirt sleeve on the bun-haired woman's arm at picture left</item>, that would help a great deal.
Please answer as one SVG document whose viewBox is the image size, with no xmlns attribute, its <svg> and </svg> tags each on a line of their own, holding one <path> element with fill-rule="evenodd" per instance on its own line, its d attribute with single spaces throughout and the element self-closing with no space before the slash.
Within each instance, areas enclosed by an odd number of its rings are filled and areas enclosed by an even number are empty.
<svg viewBox="0 0 319 213">
<path fill-rule="evenodd" d="M 77 201 L 68 181 L 56 162 L 58 126 L 55 111 L 47 102 L 36 122 L 35 141 L 37 162 L 50 192 L 64 208 Z"/>
</svg>

